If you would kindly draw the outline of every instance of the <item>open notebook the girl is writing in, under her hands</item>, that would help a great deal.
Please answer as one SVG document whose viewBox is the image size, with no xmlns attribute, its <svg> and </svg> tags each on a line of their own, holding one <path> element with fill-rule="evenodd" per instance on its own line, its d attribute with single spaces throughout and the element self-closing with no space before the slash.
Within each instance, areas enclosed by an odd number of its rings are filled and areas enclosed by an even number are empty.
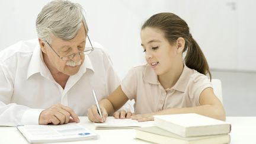
<svg viewBox="0 0 256 144">
<path fill-rule="evenodd" d="M 105 123 L 94 123 L 95 129 L 133 129 L 135 127 L 153 126 L 153 121 L 138 122 L 132 119 L 114 119 L 114 117 L 107 117 Z"/>
</svg>

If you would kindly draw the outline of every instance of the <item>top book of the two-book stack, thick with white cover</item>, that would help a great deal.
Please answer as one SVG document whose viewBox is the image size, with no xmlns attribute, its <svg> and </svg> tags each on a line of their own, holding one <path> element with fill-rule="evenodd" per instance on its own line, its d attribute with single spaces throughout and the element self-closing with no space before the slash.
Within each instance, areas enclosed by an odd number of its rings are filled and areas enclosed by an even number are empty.
<svg viewBox="0 0 256 144">
<path fill-rule="evenodd" d="M 169 114 L 153 116 L 154 124 L 183 137 L 220 135 L 231 132 L 231 124 L 200 114 Z"/>
</svg>

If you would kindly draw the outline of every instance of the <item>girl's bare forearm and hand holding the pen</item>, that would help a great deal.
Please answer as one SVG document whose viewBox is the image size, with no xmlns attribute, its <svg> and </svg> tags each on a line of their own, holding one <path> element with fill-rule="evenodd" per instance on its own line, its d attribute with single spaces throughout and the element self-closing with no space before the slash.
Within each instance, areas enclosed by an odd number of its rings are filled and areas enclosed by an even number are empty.
<svg viewBox="0 0 256 144">
<path fill-rule="evenodd" d="M 104 98 L 99 102 L 103 118 L 98 114 L 97 107 L 92 105 L 88 108 L 88 119 L 94 122 L 103 123 L 105 119 L 107 119 L 107 116 L 113 115 L 114 111 L 119 110 L 119 108 L 121 108 L 128 100 L 128 97 L 124 94 L 121 86 L 119 85 L 119 87 L 108 95 L 107 98 Z"/>
</svg>

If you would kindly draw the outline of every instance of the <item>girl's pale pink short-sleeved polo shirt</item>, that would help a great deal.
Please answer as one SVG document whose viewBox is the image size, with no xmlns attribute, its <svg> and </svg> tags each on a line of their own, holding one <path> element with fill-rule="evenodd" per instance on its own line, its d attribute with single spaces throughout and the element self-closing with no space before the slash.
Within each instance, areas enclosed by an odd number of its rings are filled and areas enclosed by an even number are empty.
<svg viewBox="0 0 256 144">
<path fill-rule="evenodd" d="M 185 64 L 172 88 L 164 89 L 156 73 L 147 64 L 132 68 L 121 82 L 124 94 L 129 100 L 135 100 L 136 114 L 198 106 L 201 92 L 208 87 L 212 87 L 210 79 Z"/>
</svg>

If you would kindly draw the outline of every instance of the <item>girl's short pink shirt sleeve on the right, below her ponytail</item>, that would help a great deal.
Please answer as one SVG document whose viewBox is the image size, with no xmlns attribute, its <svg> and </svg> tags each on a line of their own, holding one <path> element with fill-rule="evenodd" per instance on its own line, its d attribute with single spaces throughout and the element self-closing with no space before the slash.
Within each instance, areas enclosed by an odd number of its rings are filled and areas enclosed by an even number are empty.
<svg viewBox="0 0 256 144">
<path fill-rule="evenodd" d="M 190 79 L 190 85 L 189 85 L 189 97 L 192 102 L 196 102 L 196 105 L 200 105 L 199 98 L 201 95 L 201 92 L 203 92 L 206 88 L 213 88 L 212 83 L 210 82 L 210 79 L 207 78 L 206 75 L 203 75 L 201 73 L 194 73 L 193 76 Z"/>
</svg>

